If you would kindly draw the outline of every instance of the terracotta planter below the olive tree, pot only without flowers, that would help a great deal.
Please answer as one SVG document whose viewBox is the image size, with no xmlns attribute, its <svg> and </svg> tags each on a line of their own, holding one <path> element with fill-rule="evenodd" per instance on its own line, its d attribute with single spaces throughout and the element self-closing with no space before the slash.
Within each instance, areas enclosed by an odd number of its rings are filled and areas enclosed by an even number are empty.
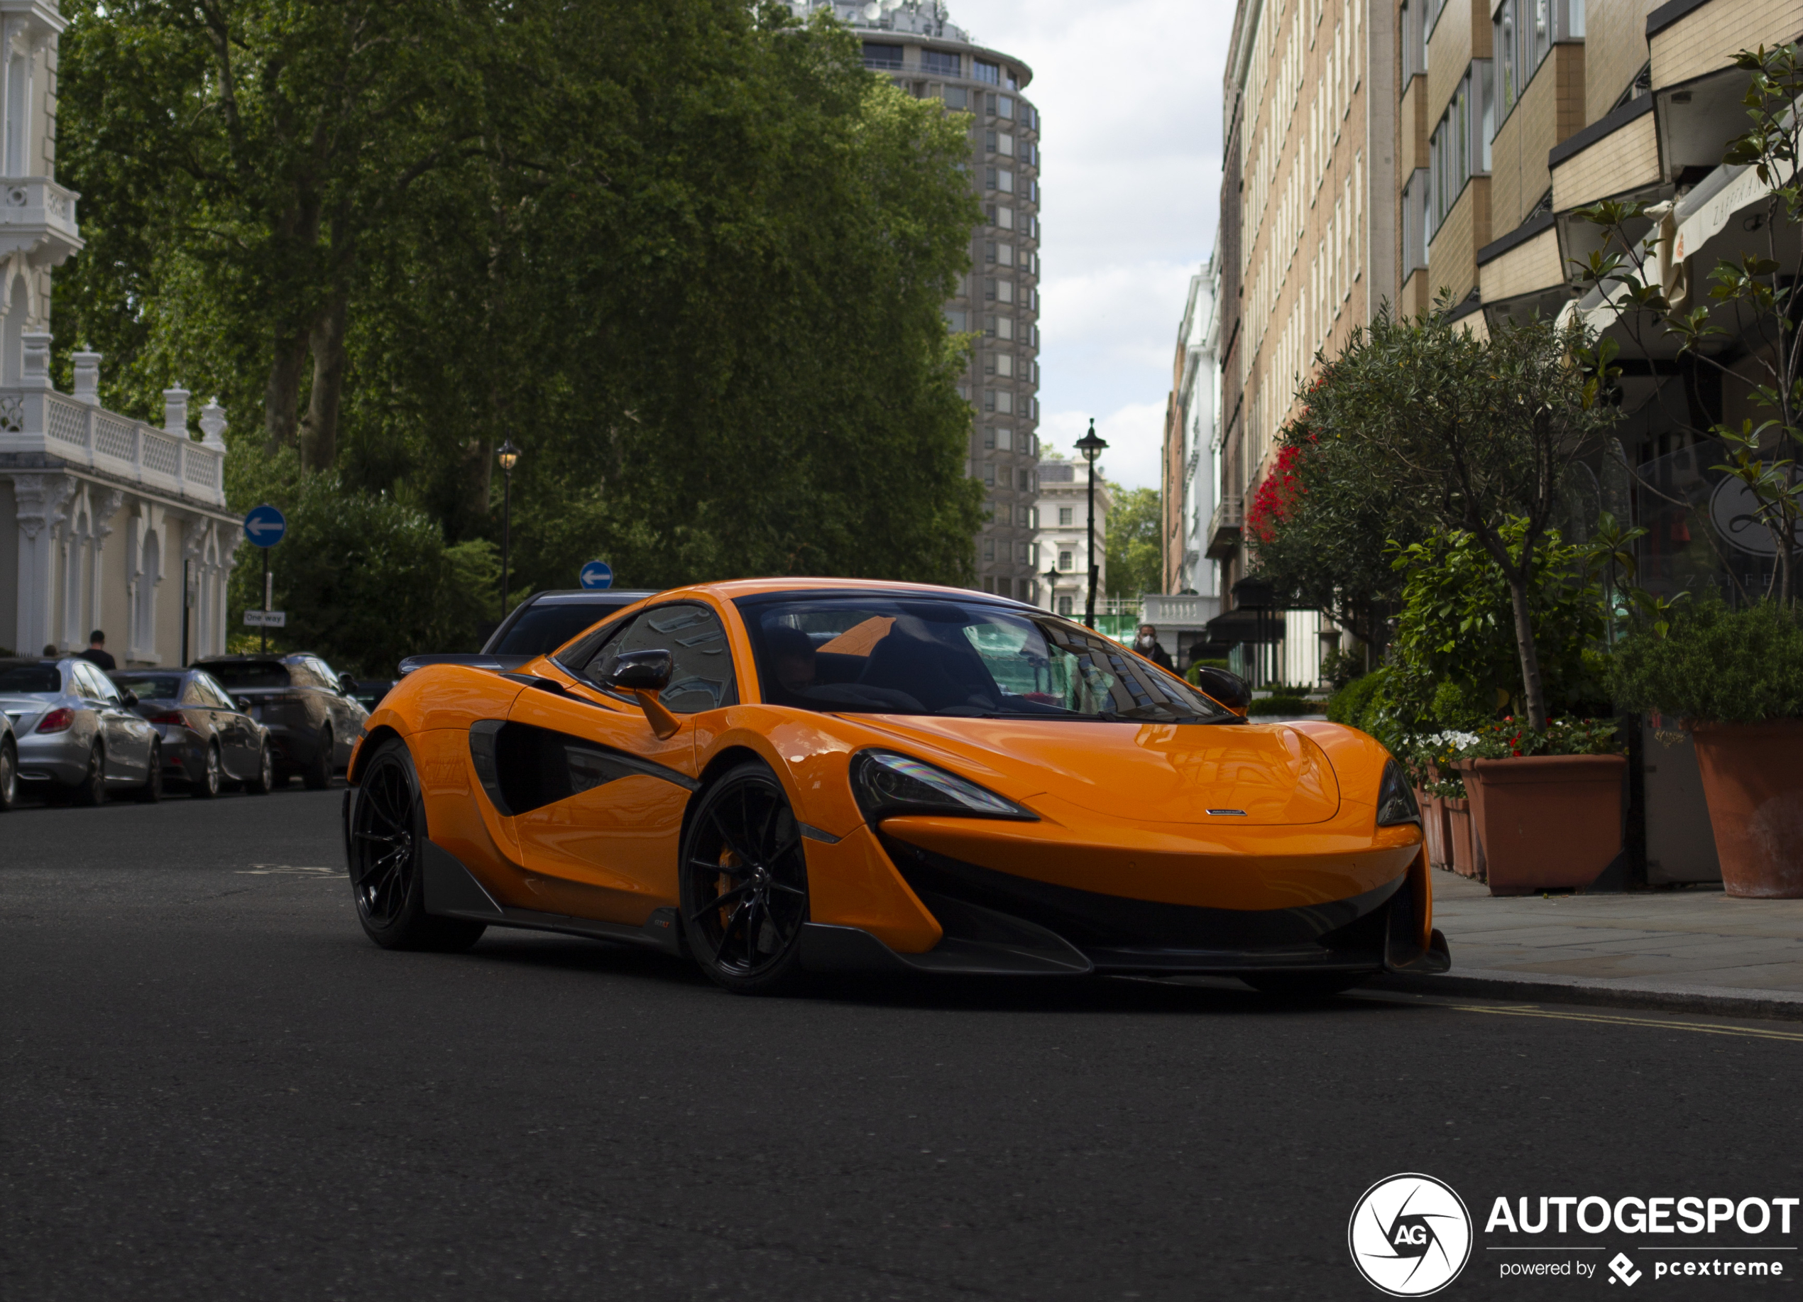
<svg viewBox="0 0 1803 1302">
<path fill-rule="evenodd" d="M 1466 759 L 1491 894 L 1583 889 L 1621 853 L 1623 756 Z"/>
</svg>

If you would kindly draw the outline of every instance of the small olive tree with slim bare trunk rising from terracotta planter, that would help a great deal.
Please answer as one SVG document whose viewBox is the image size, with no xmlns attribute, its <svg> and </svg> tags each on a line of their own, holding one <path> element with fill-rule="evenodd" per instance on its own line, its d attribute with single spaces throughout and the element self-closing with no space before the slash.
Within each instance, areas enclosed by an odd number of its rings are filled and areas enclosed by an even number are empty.
<svg viewBox="0 0 1803 1302">
<path fill-rule="evenodd" d="M 1612 344 L 1581 326 L 1500 323 L 1489 339 L 1444 319 L 1379 314 L 1352 334 L 1309 418 L 1358 445 L 1435 530 L 1471 534 L 1509 584 L 1515 644 L 1533 727 L 1547 723 L 1534 642 L 1536 550 L 1561 509 L 1565 469 L 1601 442 Z M 1520 537 L 1509 528 L 1520 521 Z"/>
</svg>

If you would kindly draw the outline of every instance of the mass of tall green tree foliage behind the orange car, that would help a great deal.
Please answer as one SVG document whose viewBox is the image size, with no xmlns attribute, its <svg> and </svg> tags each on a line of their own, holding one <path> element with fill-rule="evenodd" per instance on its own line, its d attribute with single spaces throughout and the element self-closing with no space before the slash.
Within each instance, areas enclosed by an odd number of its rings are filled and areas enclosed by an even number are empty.
<svg viewBox="0 0 1803 1302">
<path fill-rule="evenodd" d="M 449 545 L 499 541 L 512 438 L 525 588 L 590 557 L 633 586 L 972 575 L 941 314 L 968 119 L 844 27 L 737 0 L 65 13 L 90 242 L 56 344 L 108 355 L 108 404 L 220 393 L 234 481 L 330 474 Z"/>
</svg>

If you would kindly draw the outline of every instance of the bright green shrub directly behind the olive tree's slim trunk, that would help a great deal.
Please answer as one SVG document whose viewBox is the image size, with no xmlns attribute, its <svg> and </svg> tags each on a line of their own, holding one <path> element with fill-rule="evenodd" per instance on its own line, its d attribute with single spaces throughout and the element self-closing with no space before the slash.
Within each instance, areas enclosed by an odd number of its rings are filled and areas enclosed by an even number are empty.
<svg viewBox="0 0 1803 1302">
<path fill-rule="evenodd" d="M 1509 521 L 1500 532 L 1518 557 L 1525 523 Z M 1453 530 L 1399 548 L 1394 564 L 1406 573 L 1388 689 L 1399 718 L 1412 729 L 1473 729 L 1504 707 L 1525 714 L 1513 597 L 1489 552 Z M 1558 532 L 1533 557 L 1531 610 L 1549 705 L 1606 707 L 1597 665 L 1585 658 L 1603 635 L 1588 555 Z"/>
</svg>

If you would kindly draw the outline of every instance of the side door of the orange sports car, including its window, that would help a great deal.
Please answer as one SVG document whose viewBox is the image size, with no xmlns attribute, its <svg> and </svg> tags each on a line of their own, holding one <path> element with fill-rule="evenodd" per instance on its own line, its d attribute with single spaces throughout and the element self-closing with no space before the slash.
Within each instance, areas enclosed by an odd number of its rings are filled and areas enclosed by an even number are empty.
<svg viewBox="0 0 1803 1302">
<path fill-rule="evenodd" d="M 660 703 L 676 721 L 658 736 L 635 698 L 593 683 L 626 651 L 671 653 Z M 736 700 L 719 617 L 698 602 L 654 606 L 584 644 L 563 692 L 525 691 L 507 716 L 514 772 L 539 775 L 516 813 L 525 866 L 579 916 L 644 925 L 678 902 L 682 815 L 696 790 L 694 718 Z"/>
</svg>

